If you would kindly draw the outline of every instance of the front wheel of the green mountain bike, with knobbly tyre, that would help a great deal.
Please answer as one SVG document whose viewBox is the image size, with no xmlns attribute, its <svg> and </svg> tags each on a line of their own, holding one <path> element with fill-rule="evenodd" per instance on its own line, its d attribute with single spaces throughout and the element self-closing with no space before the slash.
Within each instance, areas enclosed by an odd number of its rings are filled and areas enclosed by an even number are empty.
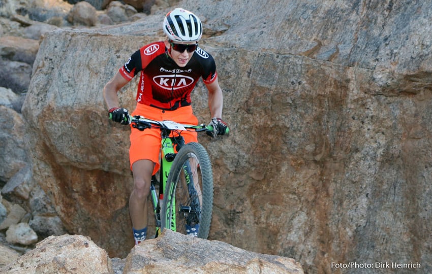
<svg viewBox="0 0 432 274">
<path fill-rule="evenodd" d="M 207 238 L 213 210 L 213 173 L 201 144 L 192 142 L 180 149 L 165 189 L 162 230 Z"/>
</svg>

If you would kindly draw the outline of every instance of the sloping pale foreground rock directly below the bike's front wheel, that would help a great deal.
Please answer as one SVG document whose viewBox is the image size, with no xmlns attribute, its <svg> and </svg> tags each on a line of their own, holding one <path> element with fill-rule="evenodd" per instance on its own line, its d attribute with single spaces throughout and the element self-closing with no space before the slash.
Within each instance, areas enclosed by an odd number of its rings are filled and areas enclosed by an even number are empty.
<svg viewBox="0 0 432 274">
<path fill-rule="evenodd" d="M 171 230 L 144 241 L 126 258 L 123 273 L 303 273 L 298 262 L 241 250 Z"/>
</svg>

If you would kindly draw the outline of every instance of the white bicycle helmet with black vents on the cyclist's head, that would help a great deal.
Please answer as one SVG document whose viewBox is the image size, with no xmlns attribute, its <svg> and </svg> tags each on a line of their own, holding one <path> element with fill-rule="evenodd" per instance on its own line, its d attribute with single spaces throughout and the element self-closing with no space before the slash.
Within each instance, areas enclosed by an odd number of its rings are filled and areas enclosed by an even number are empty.
<svg viewBox="0 0 432 274">
<path fill-rule="evenodd" d="M 163 29 L 173 42 L 196 42 L 202 36 L 200 19 L 181 8 L 176 8 L 165 16 Z"/>
</svg>

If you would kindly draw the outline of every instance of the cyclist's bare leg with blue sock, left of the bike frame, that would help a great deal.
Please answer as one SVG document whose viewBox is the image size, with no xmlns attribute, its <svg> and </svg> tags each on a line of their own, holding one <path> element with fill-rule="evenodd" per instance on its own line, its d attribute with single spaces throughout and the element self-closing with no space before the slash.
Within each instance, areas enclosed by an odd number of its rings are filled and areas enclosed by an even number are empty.
<svg viewBox="0 0 432 274">
<path fill-rule="evenodd" d="M 147 231 L 147 197 L 155 164 L 150 160 L 139 160 L 132 164 L 134 189 L 129 199 L 129 214 L 134 229 L 135 244 L 144 241 Z"/>
</svg>

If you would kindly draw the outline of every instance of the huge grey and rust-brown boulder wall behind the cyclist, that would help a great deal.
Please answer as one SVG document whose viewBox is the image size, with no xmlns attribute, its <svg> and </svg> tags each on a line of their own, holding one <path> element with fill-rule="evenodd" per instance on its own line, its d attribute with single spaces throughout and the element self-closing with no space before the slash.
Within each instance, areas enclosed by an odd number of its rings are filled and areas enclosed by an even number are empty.
<svg viewBox="0 0 432 274">
<path fill-rule="evenodd" d="M 373 260 L 432 271 L 431 4 L 179 3 L 200 7 L 231 128 L 200 139 L 214 169 L 211 239 L 298 258 L 308 272 Z M 102 88 L 164 38 L 166 11 L 48 33 L 23 107 L 34 179 L 69 231 L 111 255 L 132 246 L 132 178 L 129 129 L 107 120 Z M 122 106 L 133 108 L 136 85 Z M 205 122 L 202 83 L 193 96 Z"/>
</svg>

